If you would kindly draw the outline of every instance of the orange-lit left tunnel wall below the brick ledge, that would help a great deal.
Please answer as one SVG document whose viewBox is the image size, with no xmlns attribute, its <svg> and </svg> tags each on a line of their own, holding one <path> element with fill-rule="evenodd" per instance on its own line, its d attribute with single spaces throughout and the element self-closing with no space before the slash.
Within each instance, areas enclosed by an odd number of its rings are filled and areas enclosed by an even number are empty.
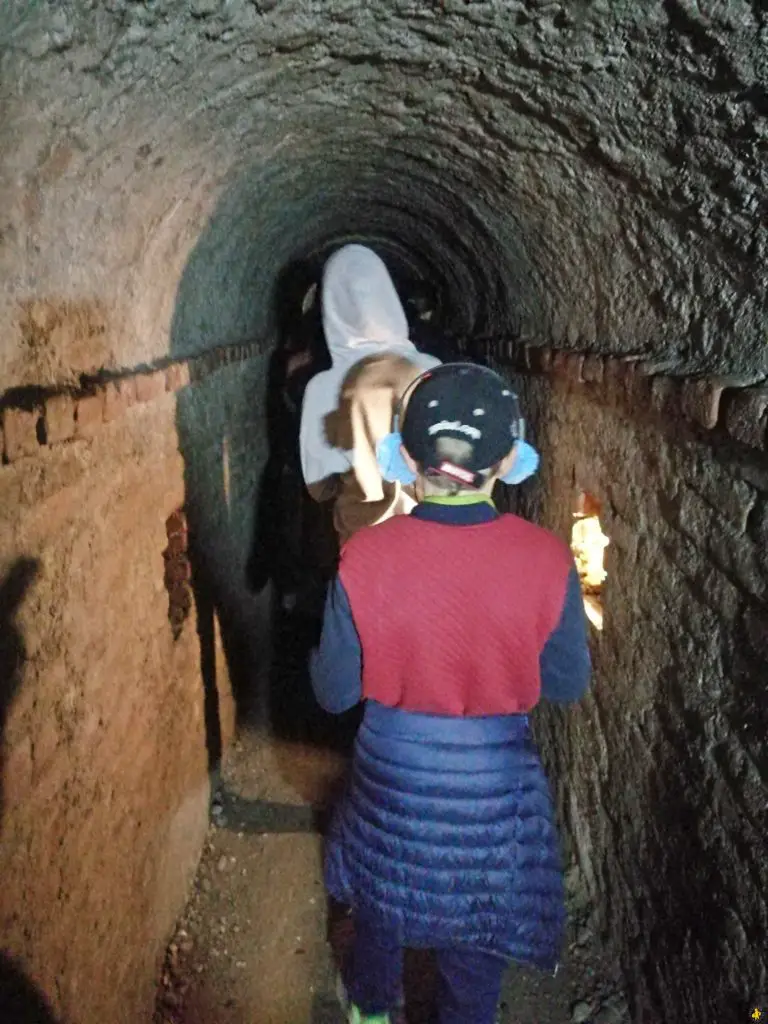
<svg viewBox="0 0 768 1024">
<path fill-rule="evenodd" d="M 191 530 L 208 505 L 178 403 L 259 368 L 236 346 L 2 396 L 0 934 L 60 1021 L 151 1018 L 197 867 L 233 707 L 218 609 L 208 636 L 186 590 L 179 509 Z"/>
</svg>

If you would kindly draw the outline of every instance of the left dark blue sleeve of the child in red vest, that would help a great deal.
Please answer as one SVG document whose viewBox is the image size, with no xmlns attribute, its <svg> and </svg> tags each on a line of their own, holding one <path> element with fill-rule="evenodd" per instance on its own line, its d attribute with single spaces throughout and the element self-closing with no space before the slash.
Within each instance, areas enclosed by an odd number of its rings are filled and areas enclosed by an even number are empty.
<svg viewBox="0 0 768 1024">
<path fill-rule="evenodd" d="M 319 706 L 332 715 L 362 699 L 360 641 L 349 598 L 337 577 L 328 589 L 323 633 L 309 655 L 309 678 Z"/>
</svg>

